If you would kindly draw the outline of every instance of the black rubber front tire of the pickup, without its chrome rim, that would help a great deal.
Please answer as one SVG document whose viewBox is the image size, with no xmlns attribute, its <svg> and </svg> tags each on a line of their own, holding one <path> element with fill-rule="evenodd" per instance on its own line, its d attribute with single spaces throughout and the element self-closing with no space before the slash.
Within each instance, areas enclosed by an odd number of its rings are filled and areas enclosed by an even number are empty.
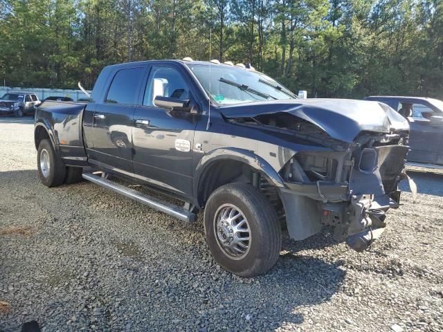
<svg viewBox="0 0 443 332">
<path fill-rule="evenodd" d="M 250 248 L 240 259 L 226 255 L 215 232 L 215 214 L 226 204 L 239 208 L 248 221 Z M 282 235 L 277 213 L 266 197 L 252 185 L 230 183 L 217 188 L 206 203 L 204 228 L 215 261 L 230 273 L 240 277 L 254 277 L 269 270 L 278 259 Z"/>
</svg>

